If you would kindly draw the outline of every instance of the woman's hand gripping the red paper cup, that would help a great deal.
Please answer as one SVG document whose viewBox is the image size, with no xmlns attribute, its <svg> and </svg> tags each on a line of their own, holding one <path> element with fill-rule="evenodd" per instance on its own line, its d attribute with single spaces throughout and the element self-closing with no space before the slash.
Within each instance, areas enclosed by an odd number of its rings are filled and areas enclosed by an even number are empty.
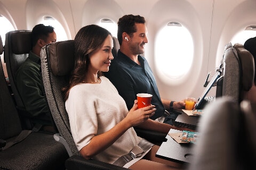
<svg viewBox="0 0 256 170">
<path fill-rule="evenodd" d="M 156 108 L 154 105 L 138 109 L 137 100 L 135 100 L 133 107 L 130 109 L 125 118 L 131 124 L 131 127 L 133 127 L 148 120 L 148 118 L 155 114 L 155 111 Z"/>
</svg>

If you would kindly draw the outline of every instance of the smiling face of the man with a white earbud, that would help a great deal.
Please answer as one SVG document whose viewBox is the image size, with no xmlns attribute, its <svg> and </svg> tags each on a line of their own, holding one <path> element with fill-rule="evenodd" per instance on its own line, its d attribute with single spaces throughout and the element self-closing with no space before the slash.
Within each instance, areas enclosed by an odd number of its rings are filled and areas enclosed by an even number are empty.
<svg viewBox="0 0 256 170">
<path fill-rule="evenodd" d="M 135 23 L 137 32 L 133 33 L 133 37 L 130 40 L 130 50 L 133 55 L 143 54 L 145 52 L 144 46 L 148 43 L 147 27 L 143 23 Z"/>
</svg>

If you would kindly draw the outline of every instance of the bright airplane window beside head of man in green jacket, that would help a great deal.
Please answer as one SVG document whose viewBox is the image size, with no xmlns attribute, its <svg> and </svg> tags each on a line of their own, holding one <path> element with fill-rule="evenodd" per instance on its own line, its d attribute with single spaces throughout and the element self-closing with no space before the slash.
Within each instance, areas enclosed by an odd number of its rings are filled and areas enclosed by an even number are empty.
<svg viewBox="0 0 256 170">
<path fill-rule="evenodd" d="M 54 28 L 54 31 L 57 35 L 57 41 L 68 40 L 67 33 L 59 21 L 55 20 L 51 16 L 44 16 L 42 23 L 44 25 L 51 25 Z"/>
</svg>

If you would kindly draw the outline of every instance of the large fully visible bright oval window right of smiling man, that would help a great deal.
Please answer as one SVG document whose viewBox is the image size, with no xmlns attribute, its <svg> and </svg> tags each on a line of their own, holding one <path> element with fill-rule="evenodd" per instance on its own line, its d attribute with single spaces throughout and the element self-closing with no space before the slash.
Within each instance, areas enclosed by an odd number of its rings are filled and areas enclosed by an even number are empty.
<svg viewBox="0 0 256 170">
<path fill-rule="evenodd" d="M 155 63 L 159 73 L 170 79 L 186 75 L 192 65 L 194 43 L 187 28 L 169 22 L 156 36 Z"/>
</svg>

